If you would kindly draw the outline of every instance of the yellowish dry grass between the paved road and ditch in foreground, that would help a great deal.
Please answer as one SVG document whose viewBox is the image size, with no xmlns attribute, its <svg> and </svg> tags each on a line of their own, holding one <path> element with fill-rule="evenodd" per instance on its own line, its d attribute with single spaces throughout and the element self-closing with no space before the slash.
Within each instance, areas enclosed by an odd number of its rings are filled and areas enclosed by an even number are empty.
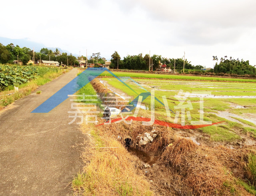
<svg viewBox="0 0 256 196">
<path fill-rule="evenodd" d="M 106 148 L 88 149 L 83 152 L 82 157 L 88 164 L 72 181 L 74 195 L 154 195 L 143 171 L 140 170 L 141 162 L 117 140 L 103 136 L 104 134 L 96 131 L 93 126 L 82 124 L 82 130 L 88 129 L 93 129 L 90 134 L 95 145 Z"/>
</svg>

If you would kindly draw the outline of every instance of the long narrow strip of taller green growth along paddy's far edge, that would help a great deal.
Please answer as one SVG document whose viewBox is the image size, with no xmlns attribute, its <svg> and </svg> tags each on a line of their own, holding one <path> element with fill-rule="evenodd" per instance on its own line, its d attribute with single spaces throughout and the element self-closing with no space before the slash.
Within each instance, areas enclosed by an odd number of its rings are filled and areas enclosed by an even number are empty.
<svg viewBox="0 0 256 196">
<path fill-rule="evenodd" d="M 131 78 L 157 78 L 157 79 L 176 79 L 176 80 L 212 80 L 212 81 L 237 81 L 237 82 L 256 82 L 254 79 L 238 79 L 238 78 L 216 78 L 216 77 L 201 77 L 201 76 L 184 76 L 184 75 L 168 75 L 168 74 L 142 74 L 132 72 L 113 72 L 116 76 Z M 100 76 L 112 75 L 104 72 Z"/>
</svg>

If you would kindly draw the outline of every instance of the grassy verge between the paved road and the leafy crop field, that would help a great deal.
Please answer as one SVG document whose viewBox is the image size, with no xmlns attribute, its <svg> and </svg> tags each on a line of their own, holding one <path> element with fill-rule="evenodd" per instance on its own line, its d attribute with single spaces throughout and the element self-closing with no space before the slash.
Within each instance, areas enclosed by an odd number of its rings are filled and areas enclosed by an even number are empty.
<svg viewBox="0 0 256 196">
<path fill-rule="evenodd" d="M 21 84 L 19 86 L 18 92 L 14 92 L 14 90 L 9 89 L 0 92 L 0 110 L 5 106 L 8 106 L 9 104 L 13 103 L 14 101 L 29 95 L 32 91 L 36 90 L 38 86 L 42 86 L 47 82 L 50 82 L 51 80 L 57 78 L 61 74 L 66 73 L 67 71 L 69 70 L 60 69 L 58 70 L 58 72 L 45 73 L 43 76 L 40 76 L 39 78 L 31 80 L 30 82 L 27 82 L 25 84 Z"/>
</svg>

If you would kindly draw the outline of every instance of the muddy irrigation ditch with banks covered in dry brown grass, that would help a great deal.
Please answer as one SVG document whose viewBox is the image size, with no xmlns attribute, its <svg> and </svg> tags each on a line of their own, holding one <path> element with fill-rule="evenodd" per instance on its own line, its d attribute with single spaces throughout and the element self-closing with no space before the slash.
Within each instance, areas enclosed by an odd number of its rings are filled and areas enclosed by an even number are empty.
<svg viewBox="0 0 256 196">
<path fill-rule="evenodd" d="M 104 104 L 113 103 L 106 98 L 113 96 L 123 109 L 122 98 L 97 79 L 91 84 Z M 139 115 L 147 117 L 150 112 L 142 110 Z M 96 128 L 140 160 L 138 168 L 155 195 L 256 195 L 255 145 L 230 148 L 218 142 L 211 145 L 207 139 L 199 143 L 189 133 L 200 135 L 201 130 L 144 126 L 142 122 L 122 121 Z"/>
</svg>

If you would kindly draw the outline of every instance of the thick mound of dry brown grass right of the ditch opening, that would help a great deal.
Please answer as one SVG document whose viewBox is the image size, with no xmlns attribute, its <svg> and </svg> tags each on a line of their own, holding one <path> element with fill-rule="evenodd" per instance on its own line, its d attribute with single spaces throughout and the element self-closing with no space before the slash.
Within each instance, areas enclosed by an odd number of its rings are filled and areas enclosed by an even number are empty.
<svg viewBox="0 0 256 196">
<path fill-rule="evenodd" d="M 211 148 L 206 145 L 197 146 L 186 138 L 175 138 L 172 145 L 167 146 L 160 161 L 170 168 L 173 174 L 180 176 L 179 182 L 186 187 L 182 194 L 194 195 L 230 195 L 230 187 L 236 186 L 234 178 L 245 175 L 248 149 L 229 149 L 224 146 Z M 236 172 L 234 172 L 236 171 Z M 225 186 L 225 184 L 230 184 Z M 240 189 L 240 191 L 238 191 Z M 245 192 L 236 186 L 234 194 Z"/>
</svg>

